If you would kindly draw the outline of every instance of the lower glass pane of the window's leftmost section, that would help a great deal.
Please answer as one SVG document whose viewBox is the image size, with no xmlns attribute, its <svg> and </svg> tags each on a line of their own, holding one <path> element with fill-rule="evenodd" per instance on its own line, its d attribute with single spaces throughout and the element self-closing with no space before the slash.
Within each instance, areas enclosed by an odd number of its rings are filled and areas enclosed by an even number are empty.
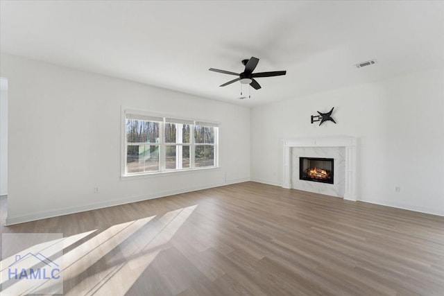
<svg viewBox="0 0 444 296">
<path fill-rule="evenodd" d="M 159 171 L 159 146 L 128 145 L 126 154 L 126 171 L 128 173 Z"/>
</svg>

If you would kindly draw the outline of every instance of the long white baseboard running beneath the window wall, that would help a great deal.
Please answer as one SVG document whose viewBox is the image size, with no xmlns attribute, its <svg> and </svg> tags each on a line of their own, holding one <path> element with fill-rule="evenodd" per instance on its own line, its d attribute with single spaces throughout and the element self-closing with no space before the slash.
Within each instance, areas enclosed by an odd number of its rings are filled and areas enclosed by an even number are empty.
<svg viewBox="0 0 444 296">
<path fill-rule="evenodd" d="M 82 205 L 79 207 L 60 208 L 60 209 L 54 209 L 51 211 L 40 211 L 40 212 L 29 213 L 29 214 L 22 215 L 22 216 L 12 216 L 12 217 L 8 216 L 6 218 L 5 225 L 9 226 L 9 225 L 15 225 L 15 224 L 19 224 L 19 223 L 26 223 L 26 222 L 35 221 L 35 220 L 46 219 L 46 218 L 58 217 L 58 216 L 69 215 L 69 214 L 76 214 L 76 213 L 80 213 L 82 211 L 92 211 L 94 209 L 103 209 L 105 207 L 115 207 L 115 206 L 119 206 L 121 204 L 129 204 L 131 202 L 142 202 L 144 200 L 152 200 L 154 198 L 164 198 L 164 197 L 170 196 L 170 195 L 187 193 L 187 192 L 191 192 L 191 191 L 209 189 L 209 188 L 225 186 L 225 185 L 230 185 L 230 184 L 236 184 L 236 183 L 241 183 L 241 182 L 248 182 L 248 181 L 250 181 L 250 178 L 227 180 L 227 181 L 221 182 L 221 183 L 205 184 L 203 186 L 194 186 L 194 187 L 189 187 L 189 188 L 185 188 L 185 189 L 176 189 L 176 190 L 171 190 L 171 191 L 162 191 L 161 193 L 144 194 L 144 195 L 133 196 L 130 198 L 118 199 L 118 200 L 107 200 L 106 202 L 85 204 L 85 205 Z"/>
</svg>

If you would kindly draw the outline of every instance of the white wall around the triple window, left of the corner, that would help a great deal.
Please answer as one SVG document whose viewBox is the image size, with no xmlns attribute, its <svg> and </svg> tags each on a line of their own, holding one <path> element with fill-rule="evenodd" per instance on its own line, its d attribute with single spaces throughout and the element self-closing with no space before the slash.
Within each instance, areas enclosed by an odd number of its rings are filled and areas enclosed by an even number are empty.
<svg viewBox="0 0 444 296">
<path fill-rule="evenodd" d="M 1 76 L 9 84 L 8 224 L 250 178 L 247 108 L 11 55 L 1 55 Z M 221 168 L 121 180 L 122 105 L 221 123 Z"/>
</svg>

